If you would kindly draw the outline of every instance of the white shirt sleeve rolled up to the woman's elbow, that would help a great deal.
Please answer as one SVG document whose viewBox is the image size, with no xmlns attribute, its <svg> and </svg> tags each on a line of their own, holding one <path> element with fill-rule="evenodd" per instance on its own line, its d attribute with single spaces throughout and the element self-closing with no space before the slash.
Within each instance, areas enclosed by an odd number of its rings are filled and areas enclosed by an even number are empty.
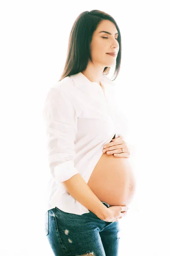
<svg viewBox="0 0 170 256">
<path fill-rule="evenodd" d="M 75 168 L 77 115 L 71 98 L 61 88 L 50 88 L 44 108 L 49 167 L 56 182 L 79 173 Z"/>
</svg>

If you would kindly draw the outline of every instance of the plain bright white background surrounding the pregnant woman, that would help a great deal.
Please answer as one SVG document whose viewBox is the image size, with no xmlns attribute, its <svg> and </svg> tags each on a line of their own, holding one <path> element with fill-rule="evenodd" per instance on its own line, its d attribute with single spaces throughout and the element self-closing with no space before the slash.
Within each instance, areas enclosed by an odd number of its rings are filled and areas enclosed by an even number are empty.
<svg viewBox="0 0 170 256">
<path fill-rule="evenodd" d="M 119 256 L 170 255 L 168 1 L 1 1 L 0 254 L 53 256 L 44 231 L 49 167 L 42 110 L 61 76 L 77 16 L 98 9 L 121 31 L 118 102 L 137 191 L 121 219 Z"/>
</svg>

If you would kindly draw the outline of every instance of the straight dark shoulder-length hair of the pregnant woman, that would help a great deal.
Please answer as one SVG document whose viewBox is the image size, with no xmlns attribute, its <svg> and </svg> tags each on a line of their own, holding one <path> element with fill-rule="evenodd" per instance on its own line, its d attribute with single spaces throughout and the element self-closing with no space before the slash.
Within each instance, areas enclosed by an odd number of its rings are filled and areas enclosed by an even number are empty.
<svg viewBox="0 0 170 256">
<path fill-rule="evenodd" d="M 119 51 L 116 58 L 115 71 L 113 73 L 113 76 L 115 77 L 111 80 L 114 81 L 116 79 L 121 65 L 121 32 L 111 15 L 99 10 L 92 10 L 90 12 L 82 12 L 80 15 L 78 15 L 72 26 L 69 35 L 66 63 L 61 75 L 61 79 L 59 81 L 61 81 L 66 76 L 72 76 L 84 71 L 89 60 L 92 61 L 90 54 L 92 35 L 102 20 L 112 21 L 118 30 Z M 105 67 L 103 74 L 109 74 L 109 70 L 110 67 Z"/>
</svg>

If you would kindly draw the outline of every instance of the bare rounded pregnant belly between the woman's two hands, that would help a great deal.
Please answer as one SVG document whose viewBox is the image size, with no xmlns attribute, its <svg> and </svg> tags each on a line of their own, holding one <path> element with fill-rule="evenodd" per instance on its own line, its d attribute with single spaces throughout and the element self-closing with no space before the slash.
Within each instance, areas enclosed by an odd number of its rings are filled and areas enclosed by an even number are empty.
<svg viewBox="0 0 170 256">
<path fill-rule="evenodd" d="M 135 178 L 129 159 L 103 153 L 87 184 L 110 206 L 130 204 L 135 192 Z"/>
</svg>

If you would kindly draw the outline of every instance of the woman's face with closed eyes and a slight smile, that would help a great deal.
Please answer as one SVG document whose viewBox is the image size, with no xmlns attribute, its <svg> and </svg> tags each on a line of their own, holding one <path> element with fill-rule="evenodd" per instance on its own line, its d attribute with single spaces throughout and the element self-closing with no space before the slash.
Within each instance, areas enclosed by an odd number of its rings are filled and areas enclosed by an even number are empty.
<svg viewBox="0 0 170 256">
<path fill-rule="evenodd" d="M 106 32 L 101 32 L 106 31 Z M 119 51 L 118 33 L 116 26 L 110 20 L 102 20 L 93 33 L 91 48 L 91 57 L 95 65 L 112 67 L 116 64 L 116 58 Z M 107 52 L 116 52 L 116 56 L 110 56 Z"/>
</svg>

